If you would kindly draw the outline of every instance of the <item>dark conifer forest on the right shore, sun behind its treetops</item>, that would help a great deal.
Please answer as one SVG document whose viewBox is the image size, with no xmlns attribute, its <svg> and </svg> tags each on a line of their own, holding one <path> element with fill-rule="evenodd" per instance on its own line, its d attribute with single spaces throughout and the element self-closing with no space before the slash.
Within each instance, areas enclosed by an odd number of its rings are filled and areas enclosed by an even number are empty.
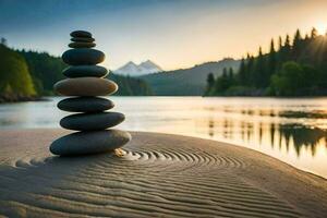
<svg viewBox="0 0 327 218">
<path fill-rule="evenodd" d="M 327 34 L 316 28 L 302 36 L 271 39 L 267 53 L 246 55 L 237 72 L 223 69 L 207 76 L 205 96 L 324 96 L 327 95 Z"/>
</svg>

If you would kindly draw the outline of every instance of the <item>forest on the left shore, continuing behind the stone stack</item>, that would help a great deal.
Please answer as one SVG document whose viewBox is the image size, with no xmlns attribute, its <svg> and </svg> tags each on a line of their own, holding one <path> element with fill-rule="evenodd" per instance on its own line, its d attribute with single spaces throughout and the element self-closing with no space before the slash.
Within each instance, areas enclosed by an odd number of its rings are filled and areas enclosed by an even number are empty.
<svg viewBox="0 0 327 218">
<path fill-rule="evenodd" d="M 39 99 L 53 96 L 53 84 L 63 80 L 68 65 L 61 58 L 47 52 L 14 50 L 0 43 L 0 102 Z M 114 75 L 108 77 L 119 85 L 116 95 L 152 95 L 146 82 L 140 78 Z"/>
</svg>

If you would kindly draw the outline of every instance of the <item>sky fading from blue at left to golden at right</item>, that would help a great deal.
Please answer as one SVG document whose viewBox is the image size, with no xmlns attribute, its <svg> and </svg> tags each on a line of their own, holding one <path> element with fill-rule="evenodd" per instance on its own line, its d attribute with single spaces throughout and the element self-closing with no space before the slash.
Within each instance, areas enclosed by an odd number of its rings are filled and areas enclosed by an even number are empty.
<svg viewBox="0 0 327 218">
<path fill-rule="evenodd" d="M 0 0 L 10 47 L 60 56 L 69 34 L 85 29 L 111 70 L 148 59 L 164 70 L 240 59 L 313 26 L 325 33 L 327 0 Z"/>
</svg>

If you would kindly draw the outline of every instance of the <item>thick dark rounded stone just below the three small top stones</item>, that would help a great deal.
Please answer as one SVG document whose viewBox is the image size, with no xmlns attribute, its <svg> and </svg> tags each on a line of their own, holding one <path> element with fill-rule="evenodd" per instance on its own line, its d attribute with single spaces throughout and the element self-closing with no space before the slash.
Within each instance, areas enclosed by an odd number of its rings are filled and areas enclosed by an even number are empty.
<svg viewBox="0 0 327 218">
<path fill-rule="evenodd" d="M 92 65 L 102 62 L 105 53 L 90 48 L 75 48 L 64 51 L 61 58 L 70 65 Z"/>
</svg>

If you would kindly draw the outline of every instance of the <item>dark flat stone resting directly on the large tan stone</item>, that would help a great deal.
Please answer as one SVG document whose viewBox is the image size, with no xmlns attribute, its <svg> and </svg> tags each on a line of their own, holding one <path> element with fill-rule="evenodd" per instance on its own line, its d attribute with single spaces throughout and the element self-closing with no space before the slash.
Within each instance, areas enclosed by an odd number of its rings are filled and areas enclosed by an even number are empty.
<svg viewBox="0 0 327 218">
<path fill-rule="evenodd" d="M 108 74 L 108 70 L 100 65 L 74 65 L 64 69 L 62 74 L 66 77 L 105 77 Z"/>
</svg>

